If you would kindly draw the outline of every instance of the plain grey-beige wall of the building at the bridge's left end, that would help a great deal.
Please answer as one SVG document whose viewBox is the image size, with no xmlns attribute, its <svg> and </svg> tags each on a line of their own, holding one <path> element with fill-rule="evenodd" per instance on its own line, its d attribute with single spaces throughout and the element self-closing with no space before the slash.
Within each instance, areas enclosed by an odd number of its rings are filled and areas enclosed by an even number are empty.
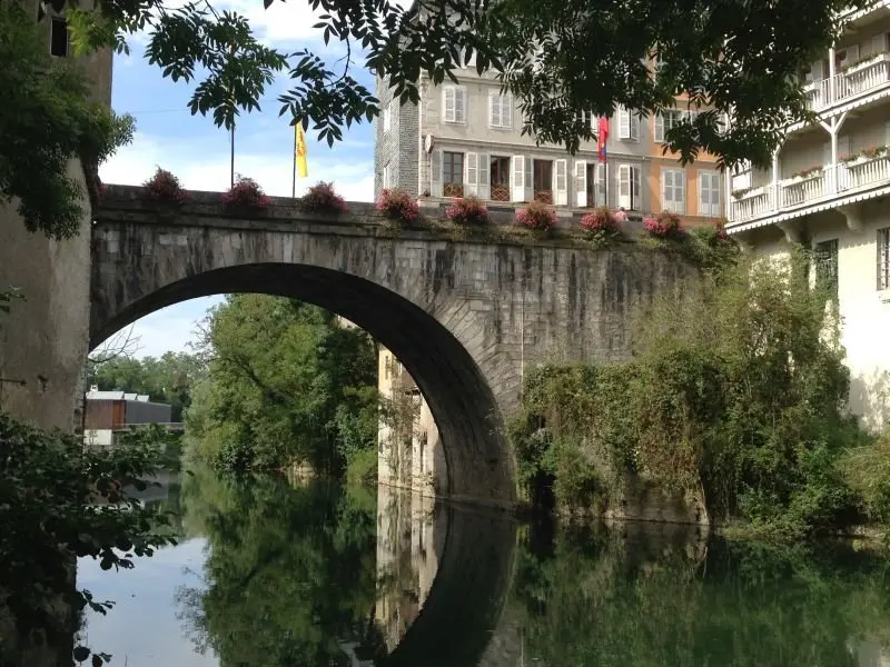
<svg viewBox="0 0 890 667">
<path fill-rule="evenodd" d="M 47 52 L 71 58 L 63 14 L 37 0 L 24 7 L 46 26 Z M 91 0 L 81 9 L 91 9 Z M 48 13 L 44 13 L 48 12 Z M 78 58 L 90 83 L 90 93 L 111 103 L 111 52 Z M 81 188 L 83 217 L 80 235 L 50 240 L 29 232 L 17 202 L 0 203 L 0 291 L 21 290 L 24 300 L 0 319 L 0 408 L 42 427 L 71 430 L 79 426 L 82 375 L 89 338 L 90 201 L 87 192 L 95 166 L 72 159 L 68 176 Z M 65 332 L 60 335 L 59 332 Z"/>
</svg>

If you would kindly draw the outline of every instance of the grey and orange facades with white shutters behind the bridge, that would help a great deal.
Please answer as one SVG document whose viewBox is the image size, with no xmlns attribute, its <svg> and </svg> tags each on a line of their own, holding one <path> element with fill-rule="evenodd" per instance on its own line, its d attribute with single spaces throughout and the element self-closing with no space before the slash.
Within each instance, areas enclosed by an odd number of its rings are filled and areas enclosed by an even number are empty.
<svg viewBox="0 0 890 667">
<path fill-rule="evenodd" d="M 686 96 L 661 117 L 616 109 L 611 121 L 607 165 L 597 161 L 596 142 L 583 141 L 575 156 L 523 135 L 522 111 L 503 94 L 494 73 L 475 68 L 454 72 L 457 82 L 418 81 L 421 101 L 398 104 L 378 78 L 382 115 L 376 126 L 375 192 L 400 188 L 438 206 L 476 196 L 493 206 L 538 200 L 571 216 L 583 209 L 623 207 L 647 213 L 663 209 L 691 225 L 723 215 L 721 176 L 713 156 L 683 167 L 664 156 L 664 132 L 694 110 Z M 596 118 L 585 116 L 596 130 Z"/>
</svg>

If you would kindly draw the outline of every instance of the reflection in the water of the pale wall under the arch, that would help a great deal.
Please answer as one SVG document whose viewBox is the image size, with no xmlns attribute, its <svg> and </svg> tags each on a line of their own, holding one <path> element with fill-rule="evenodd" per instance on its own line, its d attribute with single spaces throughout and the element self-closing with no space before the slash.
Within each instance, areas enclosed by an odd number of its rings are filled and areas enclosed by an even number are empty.
<svg viewBox="0 0 890 667">
<path fill-rule="evenodd" d="M 445 545 L 444 524 L 428 496 L 377 487 L 375 619 L 390 651 L 429 595 Z"/>
</svg>

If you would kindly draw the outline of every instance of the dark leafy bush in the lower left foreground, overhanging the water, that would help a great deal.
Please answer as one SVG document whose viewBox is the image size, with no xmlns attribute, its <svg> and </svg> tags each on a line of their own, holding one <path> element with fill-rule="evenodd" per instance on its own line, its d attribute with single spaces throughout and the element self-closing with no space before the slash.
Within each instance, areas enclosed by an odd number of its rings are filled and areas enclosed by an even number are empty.
<svg viewBox="0 0 890 667">
<path fill-rule="evenodd" d="M 145 434 L 116 450 L 85 450 L 78 436 L 0 414 L 0 664 L 18 665 L 24 655 L 33 659 L 24 651 L 36 646 L 71 646 L 83 611 L 111 608 L 76 589 L 76 558 L 129 569 L 175 539 L 168 515 L 127 492 L 146 488 L 142 480 L 158 465 L 158 448 Z M 91 651 L 77 647 L 75 655 L 86 659 Z"/>
</svg>

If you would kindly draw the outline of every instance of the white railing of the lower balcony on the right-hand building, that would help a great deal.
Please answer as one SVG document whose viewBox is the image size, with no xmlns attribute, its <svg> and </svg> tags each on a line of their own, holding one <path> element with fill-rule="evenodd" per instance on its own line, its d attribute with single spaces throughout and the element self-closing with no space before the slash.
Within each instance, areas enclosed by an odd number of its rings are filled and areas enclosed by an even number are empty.
<svg viewBox="0 0 890 667">
<path fill-rule="evenodd" d="M 772 186 L 750 190 L 732 201 L 730 220 L 739 223 L 774 216 L 878 185 L 890 185 L 890 153 L 839 163 L 837 171 L 829 166 L 803 178 L 785 179 L 774 191 Z"/>
</svg>

